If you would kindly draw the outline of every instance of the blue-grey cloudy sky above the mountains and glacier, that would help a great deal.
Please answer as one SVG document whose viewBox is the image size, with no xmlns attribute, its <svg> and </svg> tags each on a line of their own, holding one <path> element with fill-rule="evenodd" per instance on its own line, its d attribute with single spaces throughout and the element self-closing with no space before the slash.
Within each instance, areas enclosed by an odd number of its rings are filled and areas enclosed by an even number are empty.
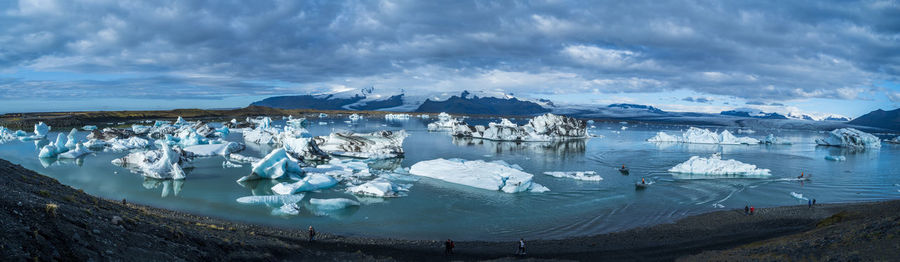
<svg viewBox="0 0 900 262">
<path fill-rule="evenodd" d="M 0 113 L 375 87 L 857 117 L 898 76 L 898 1 L 0 1 Z"/>
</svg>

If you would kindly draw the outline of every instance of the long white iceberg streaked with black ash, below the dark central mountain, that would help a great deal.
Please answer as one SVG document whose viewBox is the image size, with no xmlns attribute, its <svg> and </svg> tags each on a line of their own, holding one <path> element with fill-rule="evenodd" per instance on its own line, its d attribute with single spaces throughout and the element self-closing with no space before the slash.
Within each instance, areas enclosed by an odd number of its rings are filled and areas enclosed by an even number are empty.
<svg viewBox="0 0 900 262">
<path fill-rule="evenodd" d="M 495 141 L 554 141 L 588 137 L 584 121 L 549 113 L 532 118 L 522 126 L 505 118 L 500 123 L 490 123 L 487 127 L 456 123 L 451 134 Z"/>
</svg>

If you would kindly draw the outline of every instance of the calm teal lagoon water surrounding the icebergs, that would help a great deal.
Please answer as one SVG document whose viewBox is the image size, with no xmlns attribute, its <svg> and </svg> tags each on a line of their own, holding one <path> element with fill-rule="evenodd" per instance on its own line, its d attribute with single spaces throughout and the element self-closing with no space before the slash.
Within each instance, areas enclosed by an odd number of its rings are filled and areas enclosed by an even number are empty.
<svg viewBox="0 0 900 262">
<path fill-rule="evenodd" d="M 408 196 L 401 198 L 360 199 L 344 193 L 343 186 L 308 193 L 303 202 L 310 197 L 345 197 L 364 204 L 336 212 L 304 209 L 296 216 L 278 216 L 271 213 L 277 207 L 235 201 L 242 196 L 270 195 L 269 188 L 276 182 L 238 184 L 235 180 L 249 174 L 250 165 L 223 169 L 222 157 L 194 160 L 195 168 L 188 171 L 183 182 L 145 180 L 110 163 L 124 156 L 124 152 L 99 152 L 78 161 L 42 162 L 37 158 L 40 141 L 14 141 L 0 144 L 0 158 L 109 199 L 126 198 L 156 207 L 254 223 L 298 228 L 314 225 L 331 233 L 405 239 L 509 240 L 592 235 L 671 222 L 723 208 L 743 208 L 748 203 L 757 207 L 806 203 L 791 192 L 816 198 L 820 203 L 900 198 L 900 165 L 896 164 L 900 146 L 884 144 L 878 150 L 846 152 L 817 147 L 813 140 L 825 134 L 813 131 L 757 130 L 749 135 L 762 138 L 774 133 L 793 145 L 653 144 L 645 140 L 657 131 L 672 134 L 687 127 L 629 124 L 622 131 L 619 123 L 597 123 L 591 133 L 602 137 L 561 143 L 509 143 L 456 139 L 446 133 L 427 132 L 428 120 L 368 119 L 354 125 L 344 120 L 312 118 L 309 129 L 313 135 L 327 135 L 337 129 L 406 129 L 410 133 L 404 143 L 406 157 L 370 166 L 393 169 L 434 158 L 504 160 L 534 174 L 534 180 L 551 191 L 506 194 L 421 178 L 400 182 L 413 185 Z M 320 121 L 328 125 L 319 125 Z M 86 135 L 81 132 L 79 138 Z M 48 137 L 55 138 L 56 133 Z M 242 141 L 241 134 L 232 133 L 227 140 Z M 268 150 L 270 146 L 249 144 L 241 154 L 262 157 Z M 666 172 L 693 155 L 706 157 L 715 152 L 722 152 L 724 159 L 771 169 L 773 176 L 695 179 Z M 826 161 L 824 157 L 829 154 L 845 155 L 847 161 Z M 616 170 L 622 164 L 631 168 L 630 175 Z M 596 171 L 604 180 L 554 178 L 543 175 L 545 171 Z M 801 171 L 812 174 L 813 180 L 791 181 Z M 647 190 L 636 191 L 633 183 L 641 177 L 656 183 Z"/>
</svg>

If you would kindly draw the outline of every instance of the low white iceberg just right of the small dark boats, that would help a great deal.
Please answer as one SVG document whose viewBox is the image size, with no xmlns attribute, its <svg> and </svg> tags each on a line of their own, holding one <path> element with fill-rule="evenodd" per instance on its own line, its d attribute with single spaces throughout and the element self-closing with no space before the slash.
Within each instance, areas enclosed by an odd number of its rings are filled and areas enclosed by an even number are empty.
<svg viewBox="0 0 900 262">
<path fill-rule="evenodd" d="M 709 158 L 692 156 L 688 161 L 669 169 L 669 172 L 704 175 L 707 177 L 760 177 L 771 175 L 768 169 L 756 168 L 756 165 L 745 164 L 734 159 L 722 160 L 722 156 L 719 153 L 713 154 Z"/>
</svg>

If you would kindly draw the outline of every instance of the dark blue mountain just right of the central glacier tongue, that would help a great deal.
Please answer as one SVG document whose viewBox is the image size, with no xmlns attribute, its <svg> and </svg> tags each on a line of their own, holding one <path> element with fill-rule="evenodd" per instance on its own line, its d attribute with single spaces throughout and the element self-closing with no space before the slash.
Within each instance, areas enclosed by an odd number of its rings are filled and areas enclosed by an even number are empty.
<svg viewBox="0 0 900 262">
<path fill-rule="evenodd" d="M 451 96 L 444 101 L 426 99 L 415 112 L 452 114 L 490 114 L 490 115 L 535 115 L 550 112 L 541 105 L 522 101 L 516 98 L 478 97 L 469 98 L 469 92 L 463 91 L 459 96 Z"/>
</svg>

